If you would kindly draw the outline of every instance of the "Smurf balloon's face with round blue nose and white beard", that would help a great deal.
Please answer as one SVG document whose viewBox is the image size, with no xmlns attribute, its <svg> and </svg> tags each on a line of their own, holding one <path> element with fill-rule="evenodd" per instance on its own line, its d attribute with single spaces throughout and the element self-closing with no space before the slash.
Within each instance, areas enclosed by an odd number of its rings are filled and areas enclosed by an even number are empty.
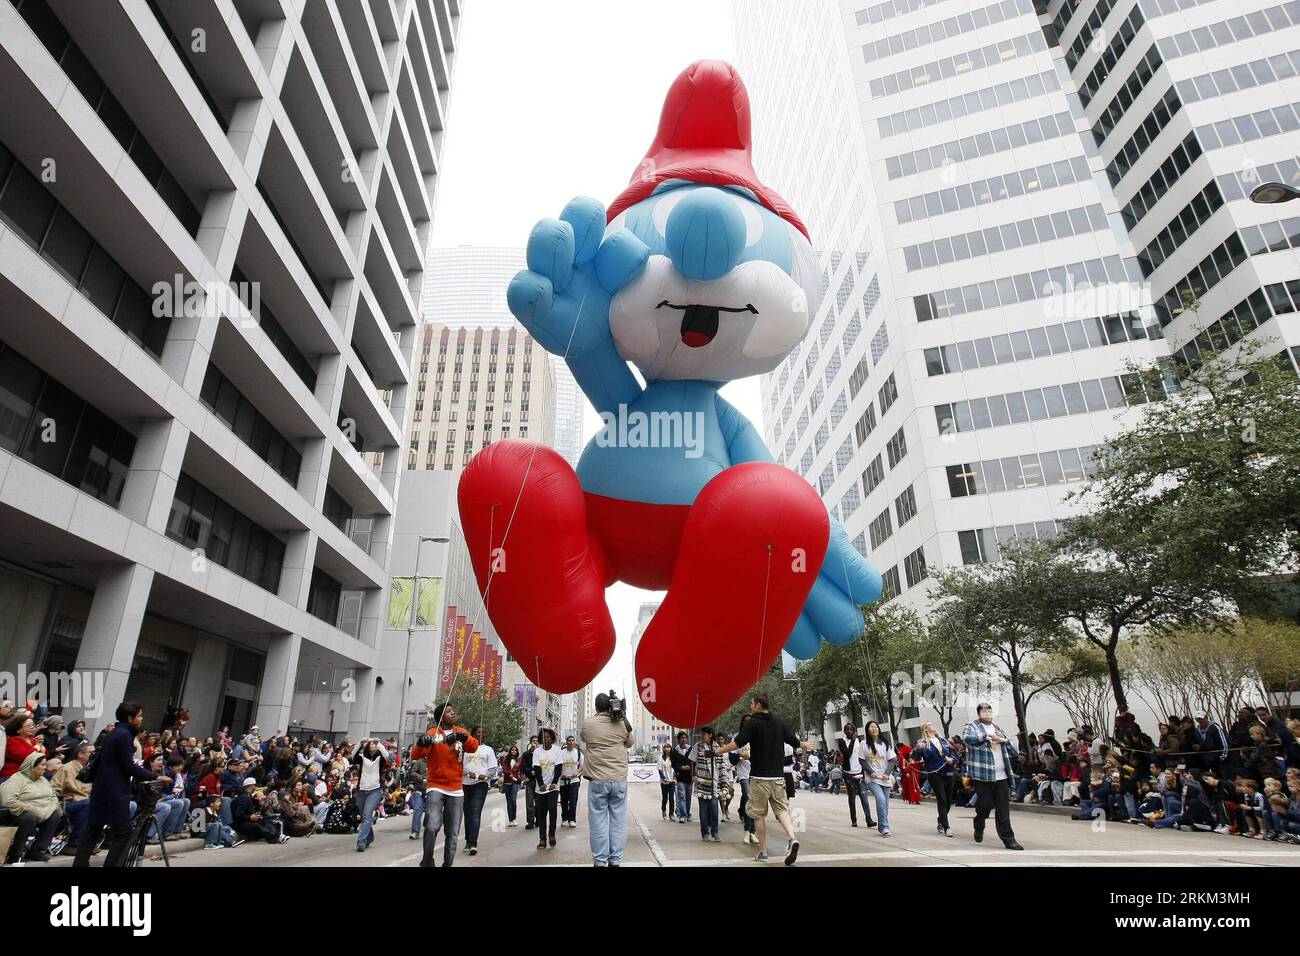
<svg viewBox="0 0 1300 956">
<path fill-rule="evenodd" d="M 608 232 L 620 228 L 650 259 L 610 303 L 610 330 L 646 381 L 760 375 L 807 333 L 812 247 L 749 190 L 668 181 Z"/>
</svg>

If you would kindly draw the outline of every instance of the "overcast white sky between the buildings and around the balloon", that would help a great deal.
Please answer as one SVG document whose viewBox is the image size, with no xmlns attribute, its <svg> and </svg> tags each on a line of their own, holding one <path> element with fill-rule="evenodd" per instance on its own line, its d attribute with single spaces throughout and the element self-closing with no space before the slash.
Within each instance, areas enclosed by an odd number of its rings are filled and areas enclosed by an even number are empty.
<svg viewBox="0 0 1300 956">
<path fill-rule="evenodd" d="M 443 151 L 436 246 L 523 246 L 576 195 L 608 204 L 654 138 L 673 78 L 729 60 L 731 4 L 472 0 L 464 5 Z M 723 394 L 759 423 L 758 380 Z M 599 421 L 588 408 L 588 434 Z M 642 601 L 607 592 L 619 649 L 597 687 L 633 692 L 628 639 Z"/>
</svg>

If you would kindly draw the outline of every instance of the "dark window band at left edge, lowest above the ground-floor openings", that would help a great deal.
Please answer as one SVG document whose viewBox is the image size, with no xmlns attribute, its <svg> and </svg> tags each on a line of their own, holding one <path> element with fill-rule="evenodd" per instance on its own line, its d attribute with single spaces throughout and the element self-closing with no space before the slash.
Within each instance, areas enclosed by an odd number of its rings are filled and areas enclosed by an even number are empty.
<svg viewBox="0 0 1300 956">
<path fill-rule="evenodd" d="M 0 449 L 117 507 L 135 436 L 0 342 Z"/>
</svg>

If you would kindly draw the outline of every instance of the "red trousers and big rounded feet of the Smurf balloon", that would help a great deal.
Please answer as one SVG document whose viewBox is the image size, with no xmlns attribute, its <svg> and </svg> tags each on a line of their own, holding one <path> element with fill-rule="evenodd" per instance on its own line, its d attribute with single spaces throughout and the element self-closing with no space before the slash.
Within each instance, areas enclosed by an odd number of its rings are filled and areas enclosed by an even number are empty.
<svg viewBox="0 0 1300 956">
<path fill-rule="evenodd" d="M 604 589 L 667 589 L 637 648 L 637 692 L 675 727 L 729 708 L 771 667 L 822 567 L 826 506 L 794 472 L 737 464 L 693 505 L 588 494 L 552 449 L 489 445 L 460 479 L 488 614 L 528 679 L 586 687 L 614 653 Z"/>
</svg>

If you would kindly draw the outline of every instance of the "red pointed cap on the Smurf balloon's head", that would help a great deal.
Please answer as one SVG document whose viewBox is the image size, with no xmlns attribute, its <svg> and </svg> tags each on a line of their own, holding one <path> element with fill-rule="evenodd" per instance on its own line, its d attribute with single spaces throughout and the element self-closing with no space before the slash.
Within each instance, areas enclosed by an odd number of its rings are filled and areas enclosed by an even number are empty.
<svg viewBox="0 0 1300 956">
<path fill-rule="evenodd" d="M 608 220 L 654 193 L 666 179 L 711 186 L 744 186 L 807 237 L 809 230 L 784 199 L 754 172 L 750 151 L 749 92 L 736 68 L 698 60 L 668 88 L 659 130 L 628 187 L 610 204 Z"/>
</svg>

